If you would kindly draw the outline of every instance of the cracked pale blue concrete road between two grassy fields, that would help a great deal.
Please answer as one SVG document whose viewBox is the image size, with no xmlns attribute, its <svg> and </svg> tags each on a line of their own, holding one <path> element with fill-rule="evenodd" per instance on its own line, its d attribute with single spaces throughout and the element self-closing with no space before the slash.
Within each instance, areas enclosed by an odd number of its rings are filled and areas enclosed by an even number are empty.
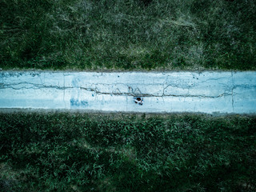
<svg viewBox="0 0 256 192">
<path fill-rule="evenodd" d="M 0 71 L 0 108 L 255 114 L 256 72 Z"/>
</svg>

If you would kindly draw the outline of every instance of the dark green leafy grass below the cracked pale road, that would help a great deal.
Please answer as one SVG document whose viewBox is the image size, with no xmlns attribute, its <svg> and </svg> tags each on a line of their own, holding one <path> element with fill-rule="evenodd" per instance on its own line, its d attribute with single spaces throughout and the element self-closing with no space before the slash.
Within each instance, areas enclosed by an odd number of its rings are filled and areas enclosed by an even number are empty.
<svg viewBox="0 0 256 192">
<path fill-rule="evenodd" d="M 0 114 L 1 191 L 255 191 L 256 117 Z"/>
</svg>

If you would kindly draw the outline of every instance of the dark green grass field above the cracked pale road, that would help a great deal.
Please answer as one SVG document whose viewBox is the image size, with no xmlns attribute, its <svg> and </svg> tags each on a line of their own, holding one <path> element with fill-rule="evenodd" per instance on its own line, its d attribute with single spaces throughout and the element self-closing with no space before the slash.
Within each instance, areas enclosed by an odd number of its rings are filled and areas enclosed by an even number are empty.
<svg viewBox="0 0 256 192">
<path fill-rule="evenodd" d="M 255 70 L 255 10 L 253 0 L 2 0 L 0 68 Z"/>
</svg>

